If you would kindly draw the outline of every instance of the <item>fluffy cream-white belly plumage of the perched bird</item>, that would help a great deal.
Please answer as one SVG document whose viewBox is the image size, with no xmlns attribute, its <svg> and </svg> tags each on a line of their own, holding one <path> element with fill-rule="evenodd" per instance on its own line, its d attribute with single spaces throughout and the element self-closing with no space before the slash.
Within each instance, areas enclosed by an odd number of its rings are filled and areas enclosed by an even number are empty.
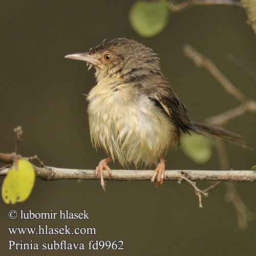
<svg viewBox="0 0 256 256">
<path fill-rule="evenodd" d="M 176 143 L 176 127 L 146 96 L 119 102 L 106 98 L 89 101 L 91 140 L 122 165 L 156 163 Z"/>
</svg>

